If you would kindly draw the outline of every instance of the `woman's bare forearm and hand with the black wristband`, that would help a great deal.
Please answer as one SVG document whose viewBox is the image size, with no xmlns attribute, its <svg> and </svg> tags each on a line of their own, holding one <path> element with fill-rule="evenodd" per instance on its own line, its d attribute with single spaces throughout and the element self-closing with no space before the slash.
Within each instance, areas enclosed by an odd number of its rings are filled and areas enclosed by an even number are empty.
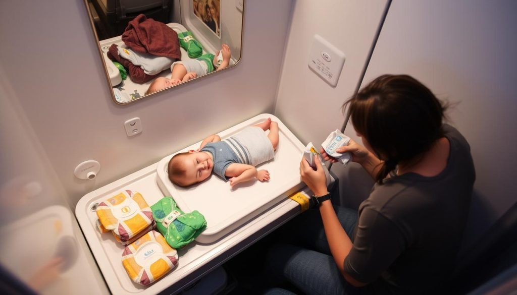
<svg viewBox="0 0 517 295">
<path fill-rule="evenodd" d="M 315 196 L 323 196 L 328 193 L 326 187 L 326 177 L 323 172 L 323 166 L 318 157 L 314 157 L 316 170 L 312 169 L 309 163 L 302 159 L 300 163 L 301 180 L 307 184 L 309 189 Z M 344 261 L 350 250 L 352 250 L 352 241 L 348 238 L 346 231 L 341 226 L 338 220 L 336 211 L 332 207 L 330 200 L 323 201 L 320 206 L 320 213 L 322 215 L 323 227 L 325 229 L 325 236 L 327 237 L 328 245 L 332 257 L 344 276 L 345 280 L 356 287 L 361 287 L 366 284 L 354 280 L 344 271 Z"/>
</svg>

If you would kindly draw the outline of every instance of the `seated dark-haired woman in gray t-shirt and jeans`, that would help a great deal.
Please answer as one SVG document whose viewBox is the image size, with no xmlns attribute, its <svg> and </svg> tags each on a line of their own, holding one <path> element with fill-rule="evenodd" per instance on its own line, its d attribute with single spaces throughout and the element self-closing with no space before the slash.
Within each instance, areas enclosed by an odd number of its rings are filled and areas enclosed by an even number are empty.
<svg viewBox="0 0 517 295">
<path fill-rule="evenodd" d="M 293 222 L 304 247 L 274 246 L 269 265 L 306 293 L 436 292 L 466 223 L 475 180 L 468 143 L 408 75 L 379 76 L 345 106 L 364 146 L 351 140 L 338 152 L 351 152 L 375 179 L 370 196 L 358 212 L 334 208 L 320 161 L 314 170 L 302 160 L 301 179 L 321 204 Z"/>
</svg>

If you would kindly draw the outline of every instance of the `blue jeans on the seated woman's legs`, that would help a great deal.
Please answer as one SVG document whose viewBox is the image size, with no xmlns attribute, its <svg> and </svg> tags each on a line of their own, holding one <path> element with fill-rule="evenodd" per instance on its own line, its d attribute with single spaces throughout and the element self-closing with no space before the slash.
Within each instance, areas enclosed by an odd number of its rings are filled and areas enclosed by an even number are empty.
<svg viewBox="0 0 517 295">
<path fill-rule="evenodd" d="M 353 240 L 357 210 L 334 206 L 348 237 Z M 308 210 L 281 229 L 290 244 L 273 245 L 266 269 L 273 282 L 286 280 L 306 294 L 362 294 L 367 290 L 348 284 L 330 253 L 320 211 Z"/>
</svg>

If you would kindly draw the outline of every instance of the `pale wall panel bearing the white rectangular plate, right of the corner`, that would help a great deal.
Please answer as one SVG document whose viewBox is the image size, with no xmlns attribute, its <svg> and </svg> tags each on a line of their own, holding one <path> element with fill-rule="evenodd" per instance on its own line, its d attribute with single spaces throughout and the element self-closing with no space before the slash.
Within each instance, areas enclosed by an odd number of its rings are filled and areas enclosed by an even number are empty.
<svg viewBox="0 0 517 295">
<path fill-rule="evenodd" d="M 275 112 L 303 143 L 320 145 L 331 131 L 342 128 L 341 106 L 360 81 L 385 6 L 386 1 L 296 1 Z M 335 88 L 308 67 L 314 34 L 346 55 Z M 369 191 L 371 183 L 366 182 Z M 349 190 L 341 195 L 342 204 L 364 188 Z"/>
</svg>

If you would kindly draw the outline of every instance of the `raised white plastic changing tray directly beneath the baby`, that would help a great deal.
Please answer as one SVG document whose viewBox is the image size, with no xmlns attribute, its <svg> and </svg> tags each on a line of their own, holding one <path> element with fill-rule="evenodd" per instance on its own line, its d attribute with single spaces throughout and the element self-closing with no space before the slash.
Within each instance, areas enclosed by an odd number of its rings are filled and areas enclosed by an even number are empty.
<svg viewBox="0 0 517 295">
<path fill-rule="evenodd" d="M 218 134 L 224 140 L 244 127 L 260 123 L 269 117 L 278 122 L 279 145 L 273 160 L 257 166 L 257 169 L 269 171 L 269 181 L 249 181 L 232 189 L 230 182 L 212 174 L 199 184 L 181 188 L 169 180 L 166 171 L 174 154 L 158 163 L 157 179 L 163 193 L 172 196 L 181 210 L 197 210 L 205 216 L 208 225 L 196 238 L 197 242 L 213 243 L 221 239 L 304 186 L 300 181 L 299 167 L 305 146 L 277 117 L 261 114 Z M 200 144 L 201 142 L 195 143 L 178 152 L 196 150 Z"/>
</svg>

